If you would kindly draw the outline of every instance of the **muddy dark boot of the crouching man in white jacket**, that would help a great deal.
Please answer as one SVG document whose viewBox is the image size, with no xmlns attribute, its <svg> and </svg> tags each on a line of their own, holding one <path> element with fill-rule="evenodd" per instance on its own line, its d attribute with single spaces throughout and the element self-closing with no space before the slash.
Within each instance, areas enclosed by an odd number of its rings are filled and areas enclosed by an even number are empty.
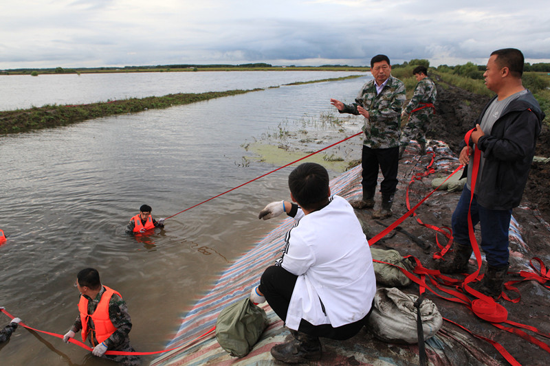
<svg viewBox="0 0 550 366">
<path fill-rule="evenodd" d="M 274 345 L 271 354 L 284 363 L 307 363 L 321 358 L 321 343 L 318 337 L 290 330 L 292 339 L 287 343 Z"/>
</svg>

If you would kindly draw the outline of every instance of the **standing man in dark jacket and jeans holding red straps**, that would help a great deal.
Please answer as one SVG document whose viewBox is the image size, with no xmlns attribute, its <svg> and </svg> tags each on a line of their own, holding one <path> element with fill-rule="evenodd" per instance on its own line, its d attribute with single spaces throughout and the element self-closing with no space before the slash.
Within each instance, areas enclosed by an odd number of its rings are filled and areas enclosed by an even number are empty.
<svg viewBox="0 0 550 366">
<path fill-rule="evenodd" d="M 485 276 L 472 288 L 497 299 L 508 270 L 508 229 L 511 210 L 517 207 L 529 176 L 544 113 L 521 82 L 524 58 L 518 49 L 498 49 L 483 73 L 485 85 L 496 96 L 476 120 L 469 146 L 459 160 L 467 165 L 467 185 L 452 214 L 454 258 L 440 262 L 443 273 L 464 273 L 472 255 L 468 236 L 468 208 L 472 183 L 472 223 L 481 226 L 481 249 L 485 252 Z M 476 181 L 472 182 L 473 145 L 481 150 Z"/>
</svg>

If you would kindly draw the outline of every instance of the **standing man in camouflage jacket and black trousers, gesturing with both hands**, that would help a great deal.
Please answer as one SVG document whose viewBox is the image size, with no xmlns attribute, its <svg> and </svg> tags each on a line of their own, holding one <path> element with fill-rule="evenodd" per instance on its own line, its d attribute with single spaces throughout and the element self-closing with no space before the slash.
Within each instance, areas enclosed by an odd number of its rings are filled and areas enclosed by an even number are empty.
<svg viewBox="0 0 550 366">
<path fill-rule="evenodd" d="M 390 59 L 386 55 L 377 55 L 371 59 L 371 73 L 374 80 L 364 84 L 355 98 L 355 103 L 344 104 L 331 99 L 331 104 L 336 106 L 340 113 L 365 117 L 361 163 L 363 198 L 351 202 L 351 205 L 356 209 L 374 207 L 380 168 L 384 176 L 380 183 L 382 208 L 373 213 L 373 218 L 386 218 L 392 214 L 391 206 L 398 182 L 401 109 L 406 100 L 405 85 L 401 80 L 391 76 Z"/>
</svg>

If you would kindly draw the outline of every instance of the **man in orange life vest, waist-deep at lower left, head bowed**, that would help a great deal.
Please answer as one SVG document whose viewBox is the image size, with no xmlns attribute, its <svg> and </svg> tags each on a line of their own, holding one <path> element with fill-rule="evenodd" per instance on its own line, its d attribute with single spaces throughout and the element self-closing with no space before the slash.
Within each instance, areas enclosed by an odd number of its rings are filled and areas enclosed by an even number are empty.
<svg viewBox="0 0 550 366">
<path fill-rule="evenodd" d="M 82 330 L 82 340 L 84 342 L 88 339 L 91 347 L 94 347 L 91 352 L 94 356 L 122 365 L 140 365 L 138 356 L 105 355 L 107 350 L 135 352 L 128 336 L 132 321 L 120 293 L 103 286 L 99 273 L 94 268 L 85 268 L 78 272 L 75 286 L 80 291 L 79 314 L 71 330 L 63 336 L 63 341 L 69 343 L 69 339 Z"/>
</svg>

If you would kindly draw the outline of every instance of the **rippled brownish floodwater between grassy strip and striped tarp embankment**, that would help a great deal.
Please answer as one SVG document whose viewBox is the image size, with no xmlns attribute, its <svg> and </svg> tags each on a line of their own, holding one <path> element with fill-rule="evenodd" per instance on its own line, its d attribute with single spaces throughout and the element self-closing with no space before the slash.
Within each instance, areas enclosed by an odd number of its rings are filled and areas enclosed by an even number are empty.
<svg viewBox="0 0 550 366">
<path fill-rule="evenodd" d="M 0 246 L 0 306 L 33 328 L 65 334 L 77 314 L 76 273 L 95 267 L 102 283 L 118 290 L 129 306 L 135 349 L 162 350 L 180 317 L 223 268 L 276 226 L 277 219 L 258 220 L 257 214 L 267 203 L 289 200 L 292 168 L 177 213 L 283 165 L 252 159 L 241 145 L 265 139 L 266 131 L 281 124 L 290 130 L 293 121 L 334 112 L 329 99 L 353 101 L 367 78 L 266 89 L 1 136 L 0 229 L 8 241 Z M 298 122 L 296 128 L 304 126 Z M 359 131 L 358 125 L 354 133 Z M 360 147 L 360 138 L 353 143 Z M 346 151 L 351 155 L 345 159 L 359 159 L 358 152 Z M 153 207 L 155 218 L 177 215 L 166 220 L 165 229 L 137 239 L 124 228 L 143 203 Z M 6 323 L 0 315 L 0 325 Z M 144 357 L 144 365 L 152 359 Z M 1 365 L 111 365 L 21 327 L 0 345 L 0 360 Z"/>
</svg>

